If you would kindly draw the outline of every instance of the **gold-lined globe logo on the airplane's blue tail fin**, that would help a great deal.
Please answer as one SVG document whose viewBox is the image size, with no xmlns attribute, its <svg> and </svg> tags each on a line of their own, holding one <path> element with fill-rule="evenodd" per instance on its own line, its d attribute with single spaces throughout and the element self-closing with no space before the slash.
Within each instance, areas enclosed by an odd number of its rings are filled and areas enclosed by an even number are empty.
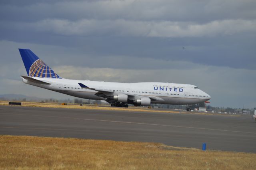
<svg viewBox="0 0 256 170">
<path fill-rule="evenodd" d="M 30 66 L 28 76 L 42 77 L 42 78 L 61 78 L 49 66 L 47 66 L 41 59 L 36 60 Z"/>
</svg>

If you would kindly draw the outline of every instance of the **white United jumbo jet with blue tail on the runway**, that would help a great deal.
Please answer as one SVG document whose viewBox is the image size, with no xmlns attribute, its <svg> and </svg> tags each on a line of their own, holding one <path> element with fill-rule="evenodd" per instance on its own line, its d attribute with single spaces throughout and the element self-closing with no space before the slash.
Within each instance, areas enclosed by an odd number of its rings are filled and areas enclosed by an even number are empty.
<svg viewBox="0 0 256 170">
<path fill-rule="evenodd" d="M 119 83 L 90 80 L 71 80 L 60 77 L 29 49 L 20 49 L 28 76 L 22 81 L 70 96 L 104 100 L 116 107 L 150 106 L 150 104 L 190 104 L 206 102 L 210 95 L 190 84 L 138 82 Z"/>
</svg>

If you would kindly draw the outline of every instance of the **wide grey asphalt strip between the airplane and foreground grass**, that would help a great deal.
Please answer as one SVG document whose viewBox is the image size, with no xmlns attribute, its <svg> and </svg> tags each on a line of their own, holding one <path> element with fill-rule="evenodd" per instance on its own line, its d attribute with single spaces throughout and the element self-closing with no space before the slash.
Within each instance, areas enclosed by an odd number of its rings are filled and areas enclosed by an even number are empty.
<svg viewBox="0 0 256 170">
<path fill-rule="evenodd" d="M 220 116 L 0 106 L 0 134 L 161 142 L 256 153 L 250 115 Z"/>
</svg>

